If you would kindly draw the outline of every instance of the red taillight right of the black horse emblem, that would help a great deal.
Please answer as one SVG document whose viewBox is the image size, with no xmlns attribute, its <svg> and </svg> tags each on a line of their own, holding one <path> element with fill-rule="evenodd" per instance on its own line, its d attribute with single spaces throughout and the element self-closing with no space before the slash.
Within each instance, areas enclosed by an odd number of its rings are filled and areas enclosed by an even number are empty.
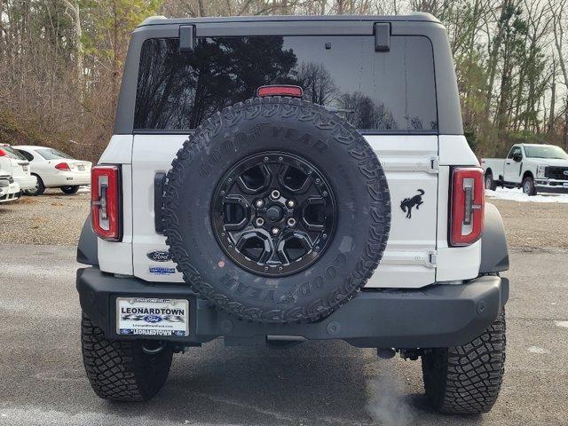
<svg viewBox="0 0 568 426">
<path fill-rule="evenodd" d="M 450 245 L 469 246 L 483 232 L 485 190 L 483 169 L 458 167 L 452 170 Z"/>
</svg>

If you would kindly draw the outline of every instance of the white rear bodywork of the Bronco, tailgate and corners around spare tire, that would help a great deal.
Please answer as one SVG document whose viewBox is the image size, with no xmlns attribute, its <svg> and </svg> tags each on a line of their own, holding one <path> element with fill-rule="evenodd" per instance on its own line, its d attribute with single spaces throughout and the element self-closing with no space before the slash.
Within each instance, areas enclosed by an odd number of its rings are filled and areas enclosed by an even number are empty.
<svg viewBox="0 0 568 426">
<path fill-rule="evenodd" d="M 188 135 L 114 136 L 100 162 L 122 164 L 122 242 L 99 240 L 99 263 L 106 272 L 131 274 L 142 280 L 181 282 L 179 272 L 152 273 L 150 268 L 175 268 L 147 256 L 167 250 L 165 237 L 154 229 L 154 176 L 170 169 Z M 462 136 L 366 136 L 380 158 L 391 197 L 391 229 L 383 260 L 367 288 L 422 288 L 438 281 L 477 277 L 481 244 L 450 248 L 447 244 L 449 166 L 477 164 Z M 400 208 L 405 198 L 422 189 L 422 205 L 412 218 Z M 127 260 L 130 259 L 130 262 Z"/>
</svg>

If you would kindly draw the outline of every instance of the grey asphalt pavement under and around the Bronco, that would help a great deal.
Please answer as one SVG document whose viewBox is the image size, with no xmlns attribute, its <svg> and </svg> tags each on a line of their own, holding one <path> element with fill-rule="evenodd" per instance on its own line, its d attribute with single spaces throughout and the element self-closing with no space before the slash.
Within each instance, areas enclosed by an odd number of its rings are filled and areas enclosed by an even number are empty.
<svg viewBox="0 0 568 426">
<path fill-rule="evenodd" d="M 213 342 L 176 355 L 146 404 L 97 398 L 83 372 L 75 248 L 0 244 L 0 424 L 568 424 L 568 263 L 560 248 L 513 248 L 508 354 L 490 414 L 433 413 L 420 362 L 346 343 L 288 351 Z"/>
</svg>

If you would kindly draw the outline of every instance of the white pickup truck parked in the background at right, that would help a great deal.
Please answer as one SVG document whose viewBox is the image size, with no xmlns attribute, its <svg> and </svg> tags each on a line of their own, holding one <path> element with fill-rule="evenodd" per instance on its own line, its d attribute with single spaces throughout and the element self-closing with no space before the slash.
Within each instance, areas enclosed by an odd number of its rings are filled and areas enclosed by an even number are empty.
<svg viewBox="0 0 568 426">
<path fill-rule="evenodd" d="M 517 144 L 506 159 L 482 158 L 485 189 L 523 188 L 528 195 L 568 193 L 568 154 L 560 146 Z"/>
</svg>

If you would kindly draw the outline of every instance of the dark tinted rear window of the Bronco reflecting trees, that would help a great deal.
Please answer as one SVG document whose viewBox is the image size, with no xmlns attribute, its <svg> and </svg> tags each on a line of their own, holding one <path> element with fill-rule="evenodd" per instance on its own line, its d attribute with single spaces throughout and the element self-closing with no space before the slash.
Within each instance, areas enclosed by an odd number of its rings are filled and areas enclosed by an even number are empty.
<svg viewBox="0 0 568 426">
<path fill-rule="evenodd" d="M 373 36 L 198 38 L 179 53 L 177 38 L 142 46 L 134 128 L 191 130 L 264 84 L 297 84 L 359 130 L 436 131 L 430 40 L 394 36 L 375 52 Z"/>
</svg>

